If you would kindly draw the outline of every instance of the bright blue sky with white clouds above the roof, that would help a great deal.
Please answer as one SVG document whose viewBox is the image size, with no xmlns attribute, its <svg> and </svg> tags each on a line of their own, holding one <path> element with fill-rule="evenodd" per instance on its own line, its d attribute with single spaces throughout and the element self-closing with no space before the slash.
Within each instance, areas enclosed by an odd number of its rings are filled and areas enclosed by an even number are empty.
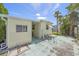
<svg viewBox="0 0 79 59">
<path fill-rule="evenodd" d="M 10 16 L 38 20 L 44 19 L 57 24 L 54 12 L 59 10 L 64 16 L 68 14 L 68 3 L 5 3 Z"/>
</svg>

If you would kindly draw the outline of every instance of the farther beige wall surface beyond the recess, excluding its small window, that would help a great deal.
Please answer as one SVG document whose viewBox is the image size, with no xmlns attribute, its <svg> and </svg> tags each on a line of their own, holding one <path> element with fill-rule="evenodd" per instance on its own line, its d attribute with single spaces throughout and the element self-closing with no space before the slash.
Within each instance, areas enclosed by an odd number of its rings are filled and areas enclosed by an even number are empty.
<svg viewBox="0 0 79 59">
<path fill-rule="evenodd" d="M 35 36 L 41 38 L 44 35 L 52 34 L 52 28 L 46 29 L 46 25 L 49 24 L 47 21 L 39 21 L 35 24 Z M 52 25 L 50 23 L 50 25 Z"/>
</svg>

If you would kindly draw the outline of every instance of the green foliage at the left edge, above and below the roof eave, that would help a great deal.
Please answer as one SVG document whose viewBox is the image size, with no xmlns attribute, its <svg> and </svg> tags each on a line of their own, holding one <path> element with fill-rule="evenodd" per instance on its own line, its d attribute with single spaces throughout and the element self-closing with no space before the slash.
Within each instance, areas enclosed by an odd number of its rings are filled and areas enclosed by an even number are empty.
<svg viewBox="0 0 79 59">
<path fill-rule="evenodd" d="M 8 14 L 8 10 L 0 3 L 0 14 Z M 5 39 L 6 36 L 6 25 L 5 21 L 0 17 L 0 42 Z"/>
</svg>

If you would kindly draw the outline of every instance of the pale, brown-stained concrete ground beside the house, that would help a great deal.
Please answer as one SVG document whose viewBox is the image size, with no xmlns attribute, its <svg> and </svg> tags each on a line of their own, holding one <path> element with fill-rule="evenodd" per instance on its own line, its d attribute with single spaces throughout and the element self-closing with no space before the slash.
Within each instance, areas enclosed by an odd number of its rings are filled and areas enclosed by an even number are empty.
<svg viewBox="0 0 79 59">
<path fill-rule="evenodd" d="M 56 36 L 51 40 L 32 42 L 29 50 L 20 54 L 20 56 L 73 56 L 78 54 L 78 45 L 70 37 Z M 40 42 L 39 42 L 40 41 Z M 77 48 L 77 49 L 76 49 Z"/>
</svg>

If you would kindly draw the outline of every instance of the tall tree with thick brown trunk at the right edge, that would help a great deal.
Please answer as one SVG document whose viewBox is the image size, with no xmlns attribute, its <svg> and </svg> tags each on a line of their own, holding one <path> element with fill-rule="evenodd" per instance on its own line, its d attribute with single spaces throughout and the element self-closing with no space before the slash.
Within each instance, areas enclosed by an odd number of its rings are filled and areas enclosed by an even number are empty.
<svg viewBox="0 0 79 59">
<path fill-rule="evenodd" d="M 67 10 L 69 10 L 70 12 L 70 35 L 71 36 L 74 36 L 74 25 L 75 25 L 75 21 L 78 20 L 78 13 L 75 12 L 75 10 L 77 10 L 77 8 L 79 8 L 79 3 L 72 3 L 70 4 L 68 7 L 66 7 Z M 77 23 L 77 22 L 76 22 Z M 78 24 L 77 24 L 78 25 Z M 77 26 L 78 28 L 78 26 Z M 77 29 L 77 32 L 78 32 L 78 29 Z"/>
</svg>

